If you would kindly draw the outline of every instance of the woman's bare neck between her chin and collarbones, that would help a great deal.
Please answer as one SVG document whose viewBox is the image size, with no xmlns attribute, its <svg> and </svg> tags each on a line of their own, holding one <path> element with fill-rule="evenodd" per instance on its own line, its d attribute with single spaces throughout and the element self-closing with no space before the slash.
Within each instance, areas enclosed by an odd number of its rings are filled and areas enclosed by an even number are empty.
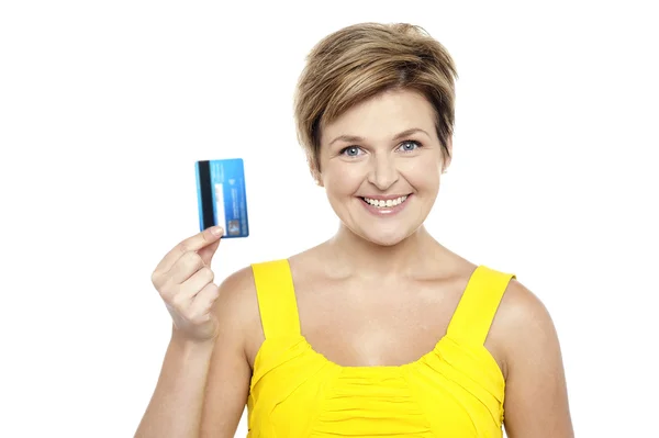
<svg viewBox="0 0 659 438">
<path fill-rule="evenodd" d="M 378 278 L 415 276 L 436 259 L 442 248 L 423 225 L 404 240 L 382 246 L 357 236 L 343 224 L 328 247 L 333 259 L 340 262 L 340 272 Z"/>
</svg>

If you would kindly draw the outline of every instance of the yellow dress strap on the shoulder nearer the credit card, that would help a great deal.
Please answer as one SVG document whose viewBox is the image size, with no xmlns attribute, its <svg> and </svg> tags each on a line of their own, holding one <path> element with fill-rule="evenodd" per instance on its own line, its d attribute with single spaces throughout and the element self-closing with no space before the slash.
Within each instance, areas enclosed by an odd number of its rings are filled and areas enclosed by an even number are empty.
<svg viewBox="0 0 659 438">
<path fill-rule="evenodd" d="M 252 271 L 266 338 L 299 335 L 300 317 L 288 260 L 253 263 Z"/>
</svg>

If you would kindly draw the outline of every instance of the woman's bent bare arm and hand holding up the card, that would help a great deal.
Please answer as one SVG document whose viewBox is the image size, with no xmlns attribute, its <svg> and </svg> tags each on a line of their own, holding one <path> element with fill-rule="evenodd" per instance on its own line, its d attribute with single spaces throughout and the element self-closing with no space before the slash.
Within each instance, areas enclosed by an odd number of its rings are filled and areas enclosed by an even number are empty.
<svg viewBox="0 0 659 438">
<path fill-rule="evenodd" d="M 213 437 L 232 437 L 238 424 L 250 374 L 243 352 L 241 322 L 241 297 L 246 293 L 235 281 L 239 274 L 227 278 L 220 287 L 213 283 L 210 265 L 219 243 L 220 236 L 211 229 L 192 236 L 172 248 L 153 273 L 174 327 L 136 438 L 200 437 L 212 368 L 222 370 L 219 384 L 226 386 L 220 392 L 222 408 L 213 413 L 223 426 Z"/>
</svg>

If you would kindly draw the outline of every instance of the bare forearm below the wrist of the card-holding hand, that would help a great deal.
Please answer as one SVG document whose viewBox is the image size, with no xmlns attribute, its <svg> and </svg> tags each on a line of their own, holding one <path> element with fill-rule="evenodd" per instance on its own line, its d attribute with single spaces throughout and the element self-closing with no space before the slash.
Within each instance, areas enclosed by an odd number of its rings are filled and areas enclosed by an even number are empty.
<svg viewBox="0 0 659 438">
<path fill-rule="evenodd" d="M 135 438 L 198 438 L 213 344 L 172 334 L 160 377 Z"/>
</svg>

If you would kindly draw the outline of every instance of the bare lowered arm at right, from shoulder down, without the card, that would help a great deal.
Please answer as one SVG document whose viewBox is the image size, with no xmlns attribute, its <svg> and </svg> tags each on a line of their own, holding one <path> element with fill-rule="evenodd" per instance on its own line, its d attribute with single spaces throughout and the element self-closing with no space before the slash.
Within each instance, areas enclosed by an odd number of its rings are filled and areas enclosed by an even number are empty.
<svg viewBox="0 0 659 438">
<path fill-rule="evenodd" d="M 573 437 L 558 334 L 545 304 L 512 279 L 491 335 L 504 362 L 505 428 L 515 437 Z"/>
</svg>

